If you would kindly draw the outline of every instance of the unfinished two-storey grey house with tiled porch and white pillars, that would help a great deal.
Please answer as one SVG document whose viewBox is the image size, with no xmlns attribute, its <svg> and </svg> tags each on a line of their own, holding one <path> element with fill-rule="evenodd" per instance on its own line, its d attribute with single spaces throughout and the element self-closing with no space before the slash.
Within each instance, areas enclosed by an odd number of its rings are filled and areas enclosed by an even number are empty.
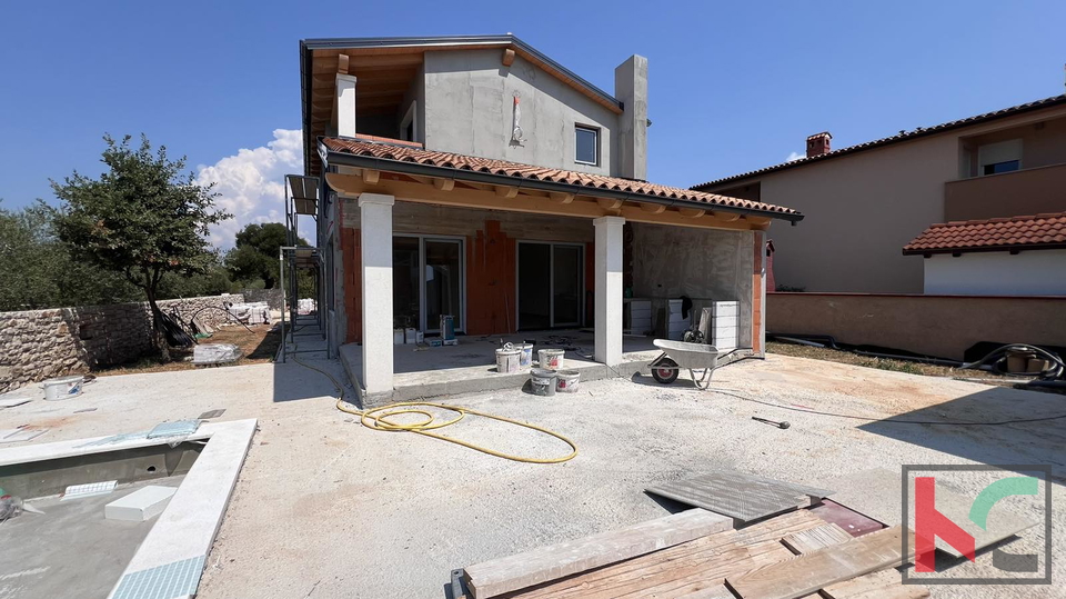
<svg viewBox="0 0 1066 599">
<path fill-rule="evenodd" d="M 610 94 L 513 36 L 304 40 L 305 170 L 322 178 L 330 341 L 388 392 L 394 327 L 595 329 L 622 360 L 623 296 L 737 301 L 762 351 L 763 236 L 792 209 L 644 181 L 647 61 Z"/>
</svg>

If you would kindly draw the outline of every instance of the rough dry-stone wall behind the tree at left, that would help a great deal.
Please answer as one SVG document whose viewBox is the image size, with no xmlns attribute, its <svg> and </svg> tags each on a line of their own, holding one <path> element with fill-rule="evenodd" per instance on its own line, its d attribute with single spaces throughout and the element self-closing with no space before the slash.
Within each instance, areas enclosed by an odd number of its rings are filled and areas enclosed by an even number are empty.
<svg viewBox="0 0 1066 599">
<path fill-rule="evenodd" d="M 205 307 L 241 303 L 241 294 L 163 300 L 188 319 Z M 233 322 L 221 310 L 198 317 L 210 327 Z M 0 312 L 0 392 L 102 366 L 135 360 L 152 349 L 148 302 Z"/>
</svg>

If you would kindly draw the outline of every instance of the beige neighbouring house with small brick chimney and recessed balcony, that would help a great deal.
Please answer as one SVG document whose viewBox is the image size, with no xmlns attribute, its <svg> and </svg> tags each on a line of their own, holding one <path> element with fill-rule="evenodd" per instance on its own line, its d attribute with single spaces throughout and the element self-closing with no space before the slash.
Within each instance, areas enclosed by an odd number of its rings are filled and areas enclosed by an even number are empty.
<svg viewBox="0 0 1066 599">
<path fill-rule="evenodd" d="M 1066 96 L 841 150 L 831 139 L 807 138 L 806 158 L 693 187 L 806 214 L 772 236 L 778 289 L 941 292 L 931 268 L 946 260 L 923 270 L 899 251 L 931 224 L 1066 210 Z"/>
</svg>

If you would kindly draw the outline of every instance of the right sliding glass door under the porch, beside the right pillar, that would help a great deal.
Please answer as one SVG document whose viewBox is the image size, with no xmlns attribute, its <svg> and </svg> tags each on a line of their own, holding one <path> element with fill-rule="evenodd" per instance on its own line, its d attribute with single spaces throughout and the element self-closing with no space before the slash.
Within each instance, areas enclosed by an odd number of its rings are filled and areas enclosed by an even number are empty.
<svg viewBox="0 0 1066 599">
<path fill-rule="evenodd" d="M 584 247 L 519 243 L 519 328 L 580 327 Z"/>
</svg>

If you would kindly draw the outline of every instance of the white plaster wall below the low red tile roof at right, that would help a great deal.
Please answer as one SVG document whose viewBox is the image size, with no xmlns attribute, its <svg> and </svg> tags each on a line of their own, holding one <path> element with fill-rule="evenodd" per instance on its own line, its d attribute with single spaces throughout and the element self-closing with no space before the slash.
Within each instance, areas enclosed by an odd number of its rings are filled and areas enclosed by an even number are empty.
<svg viewBox="0 0 1066 599">
<path fill-rule="evenodd" d="M 923 262 L 931 294 L 1066 296 L 1066 250 L 936 253 Z"/>
</svg>

